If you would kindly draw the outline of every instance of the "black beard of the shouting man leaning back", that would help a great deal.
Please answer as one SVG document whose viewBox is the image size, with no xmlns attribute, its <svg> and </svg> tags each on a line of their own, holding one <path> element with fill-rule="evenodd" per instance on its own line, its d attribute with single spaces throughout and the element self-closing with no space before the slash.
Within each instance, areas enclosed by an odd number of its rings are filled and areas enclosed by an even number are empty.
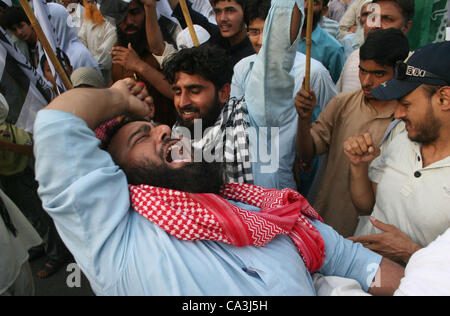
<svg viewBox="0 0 450 316">
<path fill-rule="evenodd" d="M 188 193 L 220 194 L 224 184 L 222 163 L 190 163 L 173 169 L 168 165 L 145 163 L 139 167 L 125 167 L 128 183 L 147 184 L 154 187 Z"/>
</svg>

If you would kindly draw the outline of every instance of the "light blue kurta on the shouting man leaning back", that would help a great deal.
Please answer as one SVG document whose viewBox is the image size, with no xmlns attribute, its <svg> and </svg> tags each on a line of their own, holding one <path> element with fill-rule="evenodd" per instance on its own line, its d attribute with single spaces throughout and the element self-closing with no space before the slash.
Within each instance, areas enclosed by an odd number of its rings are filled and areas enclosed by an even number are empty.
<svg viewBox="0 0 450 316">
<path fill-rule="evenodd" d="M 277 13 L 288 15 L 293 4 L 273 1 Z M 131 208 L 125 174 L 98 148 L 84 121 L 43 110 L 34 131 L 44 209 L 97 295 L 315 294 L 289 237 L 278 236 L 263 248 L 180 241 Z M 329 226 L 313 224 L 326 244 L 320 272 L 354 278 L 367 290 L 381 257 Z"/>
</svg>

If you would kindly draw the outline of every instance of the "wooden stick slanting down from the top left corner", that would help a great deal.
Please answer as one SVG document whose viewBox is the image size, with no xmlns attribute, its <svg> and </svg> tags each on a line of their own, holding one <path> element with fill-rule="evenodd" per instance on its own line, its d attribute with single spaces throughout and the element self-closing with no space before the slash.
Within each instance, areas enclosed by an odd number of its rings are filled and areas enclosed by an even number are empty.
<svg viewBox="0 0 450 316">
<path fill-rule="evenodd" d="M 34 15 L 33 10 L 31 9 L 29 3 L 27 0 L 19 0 L 20 4 L 22 5 L 23 10 L 25 11 L 28 19 L 30 20 L 31 26 L 33 27 L 34 31 L 36 32 L 36 35 L 39 39 L 39 42 L 41 42 L 42 47 L 44 48 L 45 52 L 47 53 L 47 56 L 50 58 L 50 61 L 53 64 L 53 67 L 55 67 L 55 71 L 57 72 L 59 78 L 61 78 L 62 83 L 66 87 L 67 90 L 72 89 L 72 83 L 69 80 L 69 77 L 67 77 L 66 72 L 64 71 L 63 67 L 61 66 L 61 63 L 59 62 L 58 58 L 55 55 L 55 52 L 53 52 L 53 49 L 50 45 L 50 43 L 47 40 L 47 37 L 44 34 L 44 31 L 42 31 L 41 25 L 39 24 L 39 21 L 37 20 L 36 16 Z"/>
</svg>

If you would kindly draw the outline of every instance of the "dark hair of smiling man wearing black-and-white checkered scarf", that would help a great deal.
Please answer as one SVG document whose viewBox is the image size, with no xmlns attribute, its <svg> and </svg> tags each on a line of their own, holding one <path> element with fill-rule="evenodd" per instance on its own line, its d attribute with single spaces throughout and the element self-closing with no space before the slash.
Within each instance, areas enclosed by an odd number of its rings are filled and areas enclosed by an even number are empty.
<svg viewBox="0 0 450 316">
<path fill-rule="evenodd" d="M 182 49 L 163 63 L 163 74 L 170 84 L 175 83 L 176 74 L 180 72 L 199 75 L 221 89 L 231 83 L 233 66 L 225 50 L 204 44 Z"/>
</svg>

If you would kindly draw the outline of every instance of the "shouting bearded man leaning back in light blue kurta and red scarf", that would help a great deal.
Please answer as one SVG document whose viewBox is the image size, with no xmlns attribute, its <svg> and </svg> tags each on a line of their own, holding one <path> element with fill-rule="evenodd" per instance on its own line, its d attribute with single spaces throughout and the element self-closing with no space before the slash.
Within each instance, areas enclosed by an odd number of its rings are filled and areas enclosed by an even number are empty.
<svg viewBox="0 0 450 316">
<path fill-rule="evenodd" d="M 292 17 L 291 38 L 301 25 L 303 2 L 295 4 L 275 0 L 276 18 L 267 22 L 281 26 L 278 19 Z M 203 90 L 214 97 L 213 86 Z M 316 270 L 354 278 L 374 294 L 397 288 L 401 267 L 339 238 L 295 191 L 226 184 L 218 192 L 218 168 L 206 174 L 174 159 L 178 140 L 168 126 L 132 121 L 108 152 L 98 148 L 98 124 L 125 112 L 145 116 L 150 101 L 126 79 L 68 91 L 36 121 L 44 207 L 97 295 L 314 295 Z M 61 146 L 49 151 L 55 140 Z M 155 184 L 155 173 L 195 181 Z"/>
</svg>

